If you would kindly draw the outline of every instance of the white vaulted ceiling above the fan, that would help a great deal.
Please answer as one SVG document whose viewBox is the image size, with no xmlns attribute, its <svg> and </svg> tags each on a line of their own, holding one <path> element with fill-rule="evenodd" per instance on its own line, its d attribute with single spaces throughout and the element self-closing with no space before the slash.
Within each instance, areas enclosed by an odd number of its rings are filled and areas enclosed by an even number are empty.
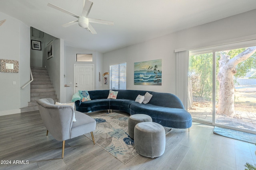
<svg viewBox="0 0 256 170">
<path fill-rule="evenodd" d="M 0 12 L 64 39 L 66 45 L 106 53 L 256 9 L 256 0 L 90 1 L 94 4 L 88 18 L 114 21 L 114 25 L 92 23 L 94 35 L 78 24 L 62 27 L 77 18 L 47 6 L 51 3 L 80 16 L 83 0 L 0 0 Z"/>
</svg>

